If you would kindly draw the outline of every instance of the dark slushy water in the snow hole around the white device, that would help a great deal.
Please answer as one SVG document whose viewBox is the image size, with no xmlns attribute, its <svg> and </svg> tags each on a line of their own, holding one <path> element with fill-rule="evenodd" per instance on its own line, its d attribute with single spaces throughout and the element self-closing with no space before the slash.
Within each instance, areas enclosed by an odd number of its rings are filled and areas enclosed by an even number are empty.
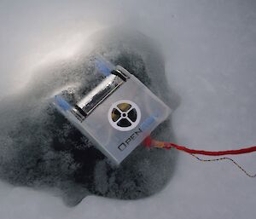
<svg viewBox="0 0 256 219">
<path fill-rule="evenodd" d="M 139 32 L 113 30 L 92 37 L 94 49 L 70 60 L 41 66 L 26 89 L 0 104 L 0 176 L 17 186 L 55 188 L 76 205 L 89 194 L 140 199 L 157 193 L 170 181 L 176 153 L 137 147 L 114 167 L 90 141 L 56 112 L 48 98 L 56 89 L 79 84 L 76 98 L 95 87 L 91 55 L 100 54 L 124 66 L 172 109 L 178 98 L 168 88 L 163 57 L 153 41 Z M 172 141 L 170 119 L 153 135 Z"/>
</svg>

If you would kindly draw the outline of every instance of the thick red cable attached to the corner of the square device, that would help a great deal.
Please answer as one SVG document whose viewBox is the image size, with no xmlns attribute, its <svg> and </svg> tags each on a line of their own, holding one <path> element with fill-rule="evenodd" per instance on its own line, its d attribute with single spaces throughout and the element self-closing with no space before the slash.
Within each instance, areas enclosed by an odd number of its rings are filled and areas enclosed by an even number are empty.
<svg viewBox="0 0 256 219">
<path fill-rule="evenodd" d="M 155 141 L 155 140 L 151 139 L 150 136 L 148 136 L 144 140 L 144 146 L 145 147 L 164 147 L 166 149 L 169 149 L 170 147 L 175 147 L 177 150 L 180 150 L 180 151 L 183 151 L 186 153 L 203 154 L 203 155 L 208 155 L 208 156 L 221 156 L 221 155 L 228 155 L 228 154 L 241 154 L 241 153 L 256 152 L 256 146 L 241 148 L 241 149 L 237 149 L 237 150 L 217 151 L 217 152 L 195 150 L 195 149 L 190 149 L 188 147 L 179 146 L 179 145 L 165 142 L 165 141 Z"/>
</svg>

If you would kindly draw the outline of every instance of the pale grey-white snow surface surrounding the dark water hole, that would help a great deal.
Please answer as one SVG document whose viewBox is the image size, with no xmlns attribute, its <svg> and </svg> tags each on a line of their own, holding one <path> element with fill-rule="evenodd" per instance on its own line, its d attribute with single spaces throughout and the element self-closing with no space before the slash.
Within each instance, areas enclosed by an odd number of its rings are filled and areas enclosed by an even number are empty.
<svg viewBox="0 0 256 219">
<path fill-rule="evenodd" d="M 230 149 L 256 142 L 256 3 L 252 1 L 0 1 L 0 88 L 21 88 L 39 63 L 73 55 L 84 37 L 125 23 L 154 37 L 179 95 L 180 144 Z M 68 51 L 68 52 L 67 52 Z M 255 171 L 255 154 L 236 158 Z M 96 196 L 71 208 L 49 192 L 0 183 L 0 218 L 255 218 L 255 179 L 230 163 L 180 154 L 169 184 L 147 199 Z"/>
</svg>

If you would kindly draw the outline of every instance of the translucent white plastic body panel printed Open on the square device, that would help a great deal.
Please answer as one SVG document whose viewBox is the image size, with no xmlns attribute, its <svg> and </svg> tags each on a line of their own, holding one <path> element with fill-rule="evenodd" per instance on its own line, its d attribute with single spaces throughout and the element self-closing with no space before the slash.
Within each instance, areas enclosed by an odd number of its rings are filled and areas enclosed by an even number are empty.
<svg viewBox="0 0 256 219">
<path fill-rule="evenodd" d="M 111 158 L 115 164 L 120 164 L 160 123 L 166 120 L 171 109 L 130 72 L 121 66 L 117 66 L 116 69 L 125 73 L 126 81 L 83 121 L 74 116 L 71 108 L 63 107 L 57 101 L 54 101 L 54 104 L 102 153 Z M 127 109 L 129 105 L 131 107 Z M 123 108 L 124 112 L 117 106 Z M 114 110 L 116 114 L 113 114 L 113 108 L 117 109 Z M 129 118 L 131 110 L 135 113 L 132 117 L 133 121 Z M 123 118 L 127 118 L 128 122 L 122 120 L 125 123 L 119 124 L 125 124 L 125 127 L 120 127 L 118 122 Z"/>
</svg>

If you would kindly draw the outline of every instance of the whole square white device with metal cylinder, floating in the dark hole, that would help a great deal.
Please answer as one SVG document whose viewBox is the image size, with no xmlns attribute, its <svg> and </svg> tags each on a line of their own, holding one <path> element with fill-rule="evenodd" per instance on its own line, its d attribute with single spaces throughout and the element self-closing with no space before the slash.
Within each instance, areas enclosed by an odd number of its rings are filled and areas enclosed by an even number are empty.
<svg viewBox="0 0 256 219">
<path fill-rule="evenodd" d="M 70 104 L 55 95 L 53 103 L 113 163 L 120 164 L 168 118 L 171 109 L 122 66 L 96 59 L 103 79 Z"/>
</svg>

